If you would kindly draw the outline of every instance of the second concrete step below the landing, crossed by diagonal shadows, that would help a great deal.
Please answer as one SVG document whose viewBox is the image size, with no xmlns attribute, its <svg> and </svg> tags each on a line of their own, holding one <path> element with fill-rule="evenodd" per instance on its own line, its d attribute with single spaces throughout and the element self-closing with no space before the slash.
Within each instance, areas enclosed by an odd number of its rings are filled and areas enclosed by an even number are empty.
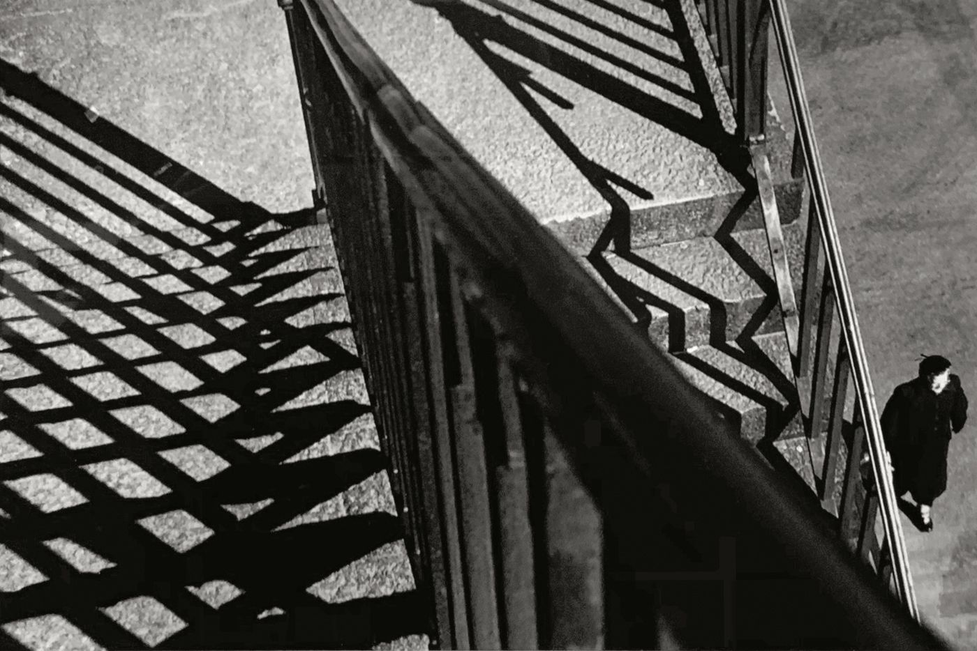
<svg viewBox="0 0 977 651">
<path fill-rule="evenodd" d="M 803 436 L 784 333 L 696 347 L 674 359 L 750 443 Z"/>
</svg>

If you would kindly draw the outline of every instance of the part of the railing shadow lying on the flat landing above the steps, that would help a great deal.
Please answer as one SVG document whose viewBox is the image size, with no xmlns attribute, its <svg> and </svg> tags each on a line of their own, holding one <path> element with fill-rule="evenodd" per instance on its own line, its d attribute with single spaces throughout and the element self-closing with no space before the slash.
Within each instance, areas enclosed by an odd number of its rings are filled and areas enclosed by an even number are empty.
<svg viewBox="0 0 977 651">
<path fill-rule="evenodd" d="M 437 8 L 607 203 L 610 220 L 595 250 L 604 250 L 612 240 L 617 250 L 627 250 L 631 209 L 622 192 L 651 201 L 657 189 L 627 179 L 584 153 L 583 143 L 575 142 L 540 100 L 564 111 L 574 109 L 573 102 L 547 87 L 533 70 L 510 60 L 510 54 L 695 142 L 711 151 L 743 186 L 750 183 L 748 156 L 735 141 L 731 127 L 724 125 L 716 90 L 709 83 L 680 2 L 649 3 L 657 10 L 651 17 L 591 0 L 587 11 L 614 19 L 602 22 L 581 13 L 582 7 L 577 12 L 549 0 L 533 0 L 521 9 L 497 0 L 468 4 L 413 1 Z M 546 18 L 540 18 L 540 13 Z M 564 29 L 561 23 L 573 27 Z M 647 38 L 625 33 L 631 29 Z M 573 53 L 582 53 L 582 57 Z"/>
</svg>

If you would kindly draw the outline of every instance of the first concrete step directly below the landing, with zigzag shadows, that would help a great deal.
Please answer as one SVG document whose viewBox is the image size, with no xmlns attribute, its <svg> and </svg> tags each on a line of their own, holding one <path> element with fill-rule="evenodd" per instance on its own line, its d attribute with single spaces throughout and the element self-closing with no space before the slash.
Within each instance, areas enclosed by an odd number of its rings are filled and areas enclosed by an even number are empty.
<svg viewBox="0 0 977 651">
<path fill-rule="evenodd" d="M 784 227 L 794 292 L 803 270 L 804 224 Z M 652 339 L 671 352 L 718 345 L 783 327 L 766 233 L 700 237 L 628 254 L 590 257 L 585 266 Z"/>
</svg>

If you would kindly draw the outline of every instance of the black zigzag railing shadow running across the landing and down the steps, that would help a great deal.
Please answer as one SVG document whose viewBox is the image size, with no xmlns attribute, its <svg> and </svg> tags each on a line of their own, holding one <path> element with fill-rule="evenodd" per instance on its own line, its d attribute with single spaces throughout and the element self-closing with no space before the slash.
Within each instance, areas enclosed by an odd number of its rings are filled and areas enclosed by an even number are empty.
<svg viewBox="0 0 977 651">
<path fill-rule="evenodd" d="M 719 108 L 708 79 L 705 76 L 704 68 L 701 65 L 700 55 L 692 37 L 690 26 L 682 15 L 677 3 L 653 3 L 660 9 L 663 9 L 667 15 L 670 28 L 666 29 L 651 20 L 633 15 L 616 5 L 603 2 L 603 0 L 591 0 L 591 4 L 604 11 L 616 14 L 620 19 L 638 24 L 646 29 L 652 29 L 659 35 L 671 39 L 677 44 L 681 52 L 681 60 L 672 59 L 670 55 L 658 52 L 648 44 L 635 42 L 627 35 L 619 33 L 604 24 L 589 20 L 571 9 L 549 2 L 548 0 L 534 0 L 536 5 L 556 12 L 562 19 L 581 23 L 590 29 L 598 31 L 604 37 L 636 49 L 645 56 L 658 59 L 658 61 L 664 61 L 682 70 L 689 76 L 693 88 L 691 92 L 678 87 L 673 88 L 674 85 L 668 80 L 650 70 L 642 69 L 632 65 L 628 61 L 623 61 L 614 54 L 602 50 L 592 43 L 581 42 L 578 38 L 554 24 L 538 20 L 527 12 L 514 9 L 494 0 L 479 1 L 488 8 L 500 12 L 501 15 L 499 16 L 492 16 L 472 4 L 413 1 L 418 4 L 430 4 L 437 8 L 439 13 L 450 22 L 455 32 L 468 43 L 473 52 L 485 61 L 498 79 L 505 84 L 509 92 L 529 111 L 532 118 L 573 161 L 577 169 L 607 202 L 610 214 L 609 224 L 600 237 L 598 237 L 597 243 L 587 259 L 604 281 L 608 283 L 617 298 L 634 314 L 637 320 L 637 326 L 647 329 L 647 326 L 652 322 L 652 313 L 649 306 L 655 306 L 666 311 L 668 313 L 670 347 L 677 348 L 679 343 L 685 339 L 687 328 L 687 324 L 685 323 L 686 314 L 679 305 L 673 305 L 661 297 L 654 296 L 652 293 L 638 287 L 616 273 L 603 255 L 612 241 L 615 243 L 616 255 L 618 257 L 630 264 L 638 266 L 644 272 L 655 276 L 659 280 L 663 280 L 670 286 L 681 290 L 707 305 L 710 319 L 710 343 L 719 346 L 724 353 L 741 362 L 751 361 L 757 363 L 760 370 L 771 382 L 785 395 L 791 396 L 794 390 L 790 381 L 784 377 L 775 363 L 761 353 L 752 341 L 752 331 L 759 328 L 764 318 L 761 317 L 758 320 L 751 320 L 750 324 L 744 330 L 743 335 L 737 339 L 737 343 L 740 346 L 730 346 L 727 344 L 727 338 L 725 336 L 729 320 L 727 306 L 720 298 L 702 291 L 691 283 L 687 283 L 676 275 L 669 273 L 666 269 L 633 254 L 630 245 L 630 208 L 626 199 L 621 195 L 620 190 L 626 190 L 644 199 L 654 198 L 653 193 L 647 188 L 622 178 L 613 170 L 597 164 L 584 155 L 577 146 L 577 143 L 573 142 L 573 139 L 560 128 L 542 104 L 537 101 L 535 96 L 553 102 L 555 105 L 564 109 L 573 108 L 573 104 L 551 89 L 546 88 L 538 79 L 534 79 L 528 68 L 513 61 L 508 61 L 501 55 L 496 54 L 489 47 L 489 44 L 501 46 L 511 52 L 517 53 L 521 57 L 572 79 L 575 83 L 625 106 L 637 114 L 655 121 L 713 151 L 719 162 L 728 172 L 733 174 L 744 187 L 751 188 L 743 193 L 743 199 L 736 204 L 724 224 L 722 224 L 719 232 L 716 234 L 716 239 L 727 253 L 761 287 L 769 291 L 770 286 L 773 285 L 769 275 L 758 264 L 752 261 L 748 254 L 743 251 L 742 247 L 736 243 L 731 234 L 734 225 L 743 213 L 745 213 L 746 208 L 755 197 L 755 181 L 748 172 L 748 156 L 745 154 L 743 148 L 734 142 L 732 135 L 726 133 L 723 129 Z M 693 115 L 679 105 L 664 102 L 657 97 L 649 95 L 627 82 L 621 81 L 616 76 L 533 37 L 529 31 L 515 26 L 512 20 L 530 25 L 531 28 L 542 31 L 551 38 L 578 48 L 599 60 L 611 63 L 621 70 L 625 70 L 645 81 L 658 85 L 663 90 L 676 93 L 685 100 L 695 102 L 701 110 L 701 116 Z M 535 93 L 535 96 L 533 93 Z M 766 304 L 761 305 L 758 312 L 764 310 L 769 312 L 770 306 Z M 754 324 L 753 321 L 757 322 Z M 764 363 L 764 360 L 766 363 Z M 690 361 L 693 364 L 697 363 L 694 359 Z M 735 382 L 729 377 L 716 377 L 717 374 L 721 376 L 721 372 L 718 369 L 708 367 L 702 368 L 701 370 L 713 376 L 715 379 L 725 380 L 730 383 Z M 747 393 L 768 410 L 783 411 L 782 406 L 776 400 L 771 400 L 755 390 L 747 390 Z M 783 420 L 780 414 L 778 414 L 776 420 Z"/>
</svg>

